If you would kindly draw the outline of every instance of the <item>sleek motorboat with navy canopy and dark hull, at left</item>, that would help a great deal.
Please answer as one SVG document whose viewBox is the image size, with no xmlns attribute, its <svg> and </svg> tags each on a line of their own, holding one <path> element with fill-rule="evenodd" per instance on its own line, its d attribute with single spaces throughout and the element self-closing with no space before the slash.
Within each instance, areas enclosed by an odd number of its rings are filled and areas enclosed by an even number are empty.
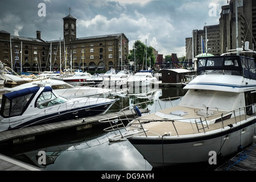
<svg viewBox="0 0 256 182">
<path fill-rule="evenodd" d="M 104 114 L 114 102 L 94 97 L 68 99 L 49 86 L 6 93 L 2 96 L 0 131 Z"/>
</svg>

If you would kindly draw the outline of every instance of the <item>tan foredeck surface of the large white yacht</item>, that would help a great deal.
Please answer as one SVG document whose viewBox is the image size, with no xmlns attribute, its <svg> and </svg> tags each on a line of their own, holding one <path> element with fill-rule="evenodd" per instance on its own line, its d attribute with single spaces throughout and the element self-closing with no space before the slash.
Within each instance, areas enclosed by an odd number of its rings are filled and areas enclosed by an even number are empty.
<svg viewBox="0 0 256 182">
<path fill-rule="evenodd" d="M 188 121 L 182 121 L 181 119 L 168 119 L 168 118 L 163 118 L 164 116 L 170 114 L 172 111 L 174 110 L 182 110 L 187 112 L 188 114 L 184 116 L 184 118 L 191 118 Z M 237 116 L 236 118 L 230 118 L 230 119 L 226 119 L 223 124 L 222 122 L 217 122 L 217 123 L 213 123 L 207 126 L 205 119 L 207 119 L 207 121 L 210 120 L 215 120 L 215 119 L 219 119 L 220 118 L 220 114 L 222 112 L 218 111 L 217 115 L 213 115 L 213 116 L 209 116 L 209 117 L 203 117 L 201 116 L 201 120 L 203 121 L 204 125 L 202 125 L 201 122 L 197 122 L 197 124 L 195 123 L 195 118 L 197 118 L 197 120 L 199 120 L 199 115 L 197 115 L 195 113 L 195 111 L 191 108 L 188 107 L 182 107 L 182 106 L 175 106 L 172 108 L 168 108 L 168 109 L 164 109 L 161 110 L 160 114 L 147 114 L 144 115 L 143 117 L 141 117 L 140 122 L 144 122 L 143 128 L 147 131 L 147 135 L 148 136 L 154 136 L 154 135 L 159 135 L 162 136 L 164 134 L 168 134 L 171 133 L 171 135 L 189 135 L 189 134 L 197 134 L 197 133 L 204 133 L 207 131 L 213 131 L 213 130 L 217 130 L 217 129 L 221 129 L 223 127 L 226 127 L 230 124 L 234 124 L 238 121 L 243 121 L 245 118 L 249 118 L 250 116 L 248 115 L 240 115 L 239 117 Z M 162 117 L 160 117 L 159 115 L 162 115 Z M 147 119 L 150 119 L 151 122 L 147 122 Z M 163 119 L 168 119 L 168 121 L 163 121 Z M 187 119 L 187 120 L 188 120 Z M 154 122 L 152 122 L 152 120 L 154 120 Z M 139 122 L 137 119 L 134 120 L 133 122 L 133 126 L 135 127 L 140 127 Z M 131 126 L 129 128 L 129 130 L 133 130 L 134 127 Z"/>
</svg>

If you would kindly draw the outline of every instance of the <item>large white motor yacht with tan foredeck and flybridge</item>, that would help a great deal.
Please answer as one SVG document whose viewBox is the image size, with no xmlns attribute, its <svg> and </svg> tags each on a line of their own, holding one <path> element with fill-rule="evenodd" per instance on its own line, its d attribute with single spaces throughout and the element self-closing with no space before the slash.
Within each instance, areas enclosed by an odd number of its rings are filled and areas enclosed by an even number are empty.
<svg viewBox="0 0 256 182">
<path fill-rule="evenodd" d="M 256 122 L 253 58 L 199 57 L 197 76 L 184 89 L 188 92 L 176 106 L 170 100 L 172 106 L 162 101 L 154 111 L 145 103 L 121 110 L 138 115 L 137 119 L 127 117 L 126 126 L 116 118 L 102 120 L 111 121 L 106 131 L 122 129 L 109 140 L 128 139 L 153 167 L 208 162 L 211 152 L 228 156 L 252 143 Z M 148 113 L 142 114 L 141 109 Z"/>
</svg>

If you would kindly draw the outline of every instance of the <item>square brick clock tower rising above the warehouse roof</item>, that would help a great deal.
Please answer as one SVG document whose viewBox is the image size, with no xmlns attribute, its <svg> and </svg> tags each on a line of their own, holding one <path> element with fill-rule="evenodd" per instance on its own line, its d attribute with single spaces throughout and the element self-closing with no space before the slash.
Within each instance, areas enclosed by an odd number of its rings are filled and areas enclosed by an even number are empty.
<svg viewBox="0 0 256 182">
<path fill-rule="evenodd" d="M 76 18 L 70 14 L 63 18 L 63 33 L 65 42 L 76 40 Z"/>
</svg>

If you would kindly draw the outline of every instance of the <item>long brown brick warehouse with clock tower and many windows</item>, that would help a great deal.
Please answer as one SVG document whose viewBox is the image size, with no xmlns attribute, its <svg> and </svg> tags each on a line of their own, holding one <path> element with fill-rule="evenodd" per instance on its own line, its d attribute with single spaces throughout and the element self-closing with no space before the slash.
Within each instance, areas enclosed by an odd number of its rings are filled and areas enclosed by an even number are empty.
<svg viewBox="0 0 256 182">
<path fill-rule="evenodd" d="M 129 67 L 129 39 L 125 34 L 77 38 L 76 20 L 70 14 L 63 18 L 61 40 L 42 40 L 40 31 L 36 31 L 36 38 L 0 31 L 0 61 L 16 72 L 60 71 L 60 67 L 61 71 Z"/>
</svg>

